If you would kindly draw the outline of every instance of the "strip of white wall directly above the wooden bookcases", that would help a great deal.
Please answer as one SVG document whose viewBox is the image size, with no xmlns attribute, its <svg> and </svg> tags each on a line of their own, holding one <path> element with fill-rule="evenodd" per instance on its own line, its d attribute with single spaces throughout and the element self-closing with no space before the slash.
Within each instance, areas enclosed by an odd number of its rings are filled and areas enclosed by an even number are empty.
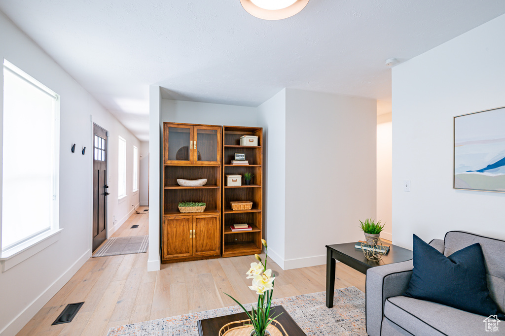
<svg viewBox="0 0 505 336">
<path fill-rule="evenodd" d="M 258 126 L 256 107 L 162 99 L 161 120 L 218 126 Z"/>
</svg>

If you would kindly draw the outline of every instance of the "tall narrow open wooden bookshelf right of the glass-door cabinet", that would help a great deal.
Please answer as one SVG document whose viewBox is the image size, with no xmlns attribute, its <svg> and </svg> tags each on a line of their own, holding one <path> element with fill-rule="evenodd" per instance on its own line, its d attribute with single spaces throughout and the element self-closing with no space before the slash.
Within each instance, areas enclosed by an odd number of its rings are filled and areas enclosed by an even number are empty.
<svg viewBox="0 0 505 336">
<path fill-rule="evenodd" d="M 243 135 L 258 136 L 258 146 L 240 146 Z M 263 128 L 223 126 L 222 162 L 222 255 L 233 257 L 262 252 L 263 237 Z M 248 165 L 233 165 L 235 153 L 244 153 Z M 251 185 L 246 186 L 243 175 L 254 174 Z M 226 175 L 242 175 L 241 186 L 226 186 Z M 252 201 L 250 210 L 232 210 L 232 201 Z M 233 224 L 247 223 L 251 231 L 234 232 Z"/>
</svg>

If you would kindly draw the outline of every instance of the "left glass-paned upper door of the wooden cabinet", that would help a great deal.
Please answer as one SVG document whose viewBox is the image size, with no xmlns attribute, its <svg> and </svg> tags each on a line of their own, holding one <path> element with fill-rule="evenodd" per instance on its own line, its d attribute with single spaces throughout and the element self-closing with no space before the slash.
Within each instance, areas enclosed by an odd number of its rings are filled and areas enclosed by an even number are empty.
<svg viewBox="0 0 505 336">
<path fill-rule="evenodd" d="M 165 124 L 163 137 L 165 141 L 165 163 L 193 163 L 192 126 Z"/>
</svg>

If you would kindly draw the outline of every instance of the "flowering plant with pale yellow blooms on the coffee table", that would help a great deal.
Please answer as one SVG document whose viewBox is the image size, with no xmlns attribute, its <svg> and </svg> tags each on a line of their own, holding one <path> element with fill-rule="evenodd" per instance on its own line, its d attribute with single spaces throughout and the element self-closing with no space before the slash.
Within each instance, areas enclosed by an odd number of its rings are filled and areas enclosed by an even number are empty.
<svg viewBox="0 0 505 336">
<path fill-rule="evenodd" d="M 258 294 L 258 304 L 256 308 L 252 306 L 250 313 L 245 309 L 245 307 L 235 300 L 231 295 L 228 295 L 232 298 L 233 301 L 238 303 L 240 307 L 247 314 L 247 317 L 251 321 L 252 330 L 250 331 L 249 336 L 267 336 L 270 335 L 270 332 L 267 330 L 267 327 L 272 321 L 277 318 L 279 315 L 275 317 L 270 317 L 270 306 L 272 304 L 272 295 L 274 292 L 274 280 L 275 277 L 272 276 L 272 270 L 267 269 L 267 258 L 268 258 L 268 245 L 266 240 L 262 239 L 261 243 L 265 246 L 266 256 L 265 262 L 261 259 L 258 254 L 255 254 L 256 259 L 259 261 L 252 262 L 250 269 L 247 271 L 247 279 L 252 279 L 252 286 L 249 286 L 249 289 L 252 291 L 256 291 Z M 250 327 L 250 326 L 249 326 Z"/>
</svg>

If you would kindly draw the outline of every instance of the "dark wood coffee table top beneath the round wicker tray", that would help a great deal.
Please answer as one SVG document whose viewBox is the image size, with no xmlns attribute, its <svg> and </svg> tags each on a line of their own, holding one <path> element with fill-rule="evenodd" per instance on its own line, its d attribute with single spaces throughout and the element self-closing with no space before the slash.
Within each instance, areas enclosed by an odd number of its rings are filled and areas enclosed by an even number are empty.
<svg viewBox="0 0 505 336">
<path fill-rule="evenodd" d="M 272 315 L 277 316 L 276 320 L 282 324 L 284 329 L 289 336 L 306 336 L 306 334 L 300 329 L 298 324 L 289 316 L 287 311 L 282 306 L 272 307 Z M 196 324 L 198 325 L 198 335 L 199 336 L 219 336 L 219 330 L 223 325 L 240 320 L 248 319 L 247 315 L 242 312 L 238 314 L 219 316 L 214 318 L 206 318 L 204 320 L 198 320 Z M 282 331 L 281 331 L 282 332 Z"/>
</svg>

